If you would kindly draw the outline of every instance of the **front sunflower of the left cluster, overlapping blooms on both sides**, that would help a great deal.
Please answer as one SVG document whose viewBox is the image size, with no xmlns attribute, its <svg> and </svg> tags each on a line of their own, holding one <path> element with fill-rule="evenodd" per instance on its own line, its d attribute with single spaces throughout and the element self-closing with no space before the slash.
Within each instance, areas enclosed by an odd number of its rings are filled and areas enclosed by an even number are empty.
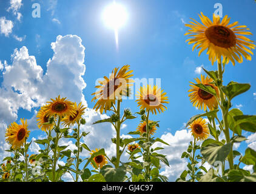
<svg viewBox="0 0 256 194">
<path fill-rule="evenodd" d="M 44 106 L 44 111 L 47 116 L 75 116 L 76 110 L 73 107 L 73 102 L 66 100 L 66 98 L 58 98 L 51 99 L 52 102 L 47 102 L 49 104 Z"/>
</svg>

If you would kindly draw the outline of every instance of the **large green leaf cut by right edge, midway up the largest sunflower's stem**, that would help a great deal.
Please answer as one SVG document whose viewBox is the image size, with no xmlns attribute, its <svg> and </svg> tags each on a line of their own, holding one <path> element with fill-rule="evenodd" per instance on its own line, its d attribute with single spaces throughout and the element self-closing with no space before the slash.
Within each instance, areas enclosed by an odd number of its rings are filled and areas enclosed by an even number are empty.
<svg viewBox="0 0 256 194">
<path fill-rule="evenodd" d="M 235 127 L 239 126 L 247 132 L 256 132 L 256 116 L 255 115 L 240 115 L 234 116 Z"/>
</svg>

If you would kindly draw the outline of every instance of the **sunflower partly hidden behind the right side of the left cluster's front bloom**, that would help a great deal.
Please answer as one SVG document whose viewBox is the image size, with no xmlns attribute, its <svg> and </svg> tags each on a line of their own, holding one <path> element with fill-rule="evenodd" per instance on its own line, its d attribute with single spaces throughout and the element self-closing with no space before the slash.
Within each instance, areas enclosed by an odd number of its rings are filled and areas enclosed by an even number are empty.
<svg viewBox="0 0 256 194">
<path fill-rule="evenodd" d="M 86 110 L 86 107 L 82 105 L 82 102 L 80 102 L 78 105 L 76 105 L 76 102 L 75 102 L 74 108 L 76 110 L 75 116 L 70 115 L 62 119 L 62 121 L 64 122 L 64 125 L 70 126 L 75 124 L 75 122 L 78 122 L 82 118 L 82 115 L 84 114 L 84 110 Z"/>
</svg>

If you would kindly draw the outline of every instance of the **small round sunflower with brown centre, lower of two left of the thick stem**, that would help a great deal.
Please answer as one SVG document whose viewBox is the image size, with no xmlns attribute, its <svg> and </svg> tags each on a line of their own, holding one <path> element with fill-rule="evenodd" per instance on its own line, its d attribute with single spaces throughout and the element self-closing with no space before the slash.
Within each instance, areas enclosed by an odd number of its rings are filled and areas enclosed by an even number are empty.
<svg viewBox="0 0 256 194">
<path fill-rule="evenodd" d="M 207 139 L 210 135 L 207 123 L 203 118 L 199 118 L 192 122 L 192 124 L 189 125 L 189 129 L 191 129 L 192 135 L 200 140 Z"/>
</svg>

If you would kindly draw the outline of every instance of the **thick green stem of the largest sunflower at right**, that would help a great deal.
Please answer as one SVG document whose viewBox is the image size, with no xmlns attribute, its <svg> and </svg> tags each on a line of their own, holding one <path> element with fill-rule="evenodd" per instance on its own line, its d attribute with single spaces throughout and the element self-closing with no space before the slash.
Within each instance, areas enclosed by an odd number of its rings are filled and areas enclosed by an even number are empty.
<svg viewBox="0 0 256 194">
<path fill-rule="evenodd" d="M 226 137 L 226 143 L 230 142 L 230 136 L 229 136 L 229 124 L 227 122 L 227 114 L 229 112 L 229 103 L 227 104 L 227 107 L 223 107 L 223 102 L 225 101 L 224 93 L 221 90 L 221 87 L 223 86 L 223 70 L 222 70 L 222 63 L 218 62 L 218 78 L 220 79 L 221 83 L 218 85 L 218 89 L 220 90 L 220 101 L 221 101 L 221 112 L 223 117 L 223 123 L 224 123 L 224 135 Z M 233 161 L 233 148 L 231 148 L 231 152 L 228 156 L 229 161 L 229 167 L 230 169 L 234 169 L 234 161 Z"/>
</svg>

